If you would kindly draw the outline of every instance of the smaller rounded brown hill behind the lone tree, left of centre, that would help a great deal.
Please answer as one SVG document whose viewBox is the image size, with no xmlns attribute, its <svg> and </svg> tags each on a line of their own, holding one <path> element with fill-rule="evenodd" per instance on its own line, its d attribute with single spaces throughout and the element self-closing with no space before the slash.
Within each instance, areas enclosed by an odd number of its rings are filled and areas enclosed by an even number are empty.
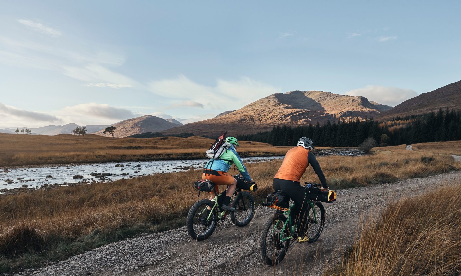
<svg viewBox="0 0 461 276">
<path fill-rule="evenodd" d="M 165 129 L 177 127 L 177 124 L 166 121 L 165 119 L 152 116 L 144 115 L 142 117 L 136 117 L 133 119 L 124 120 L 112 125 L 117 127 L 114 131 L 114 137 L 127 137 L 134 134 L 141 134 L 146 132 L 160 132 Z M 111 134 L 103 134 L 104 130 L 96 132 L 94 134 L 112 137 Z"/>
</svg>

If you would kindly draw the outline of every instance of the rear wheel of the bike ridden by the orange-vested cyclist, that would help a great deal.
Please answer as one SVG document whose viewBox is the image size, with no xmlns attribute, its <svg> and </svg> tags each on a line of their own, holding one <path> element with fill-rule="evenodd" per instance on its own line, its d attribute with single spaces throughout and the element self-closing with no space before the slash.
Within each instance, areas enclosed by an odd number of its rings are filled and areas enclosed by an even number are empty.
<svg viewBox="0 0 461 276">
<path fill-rule="evenodd" d="M 283 233 L 282 229 L 284 228 Z M 275 213 L 266 222 L 266 226 L 261 234 L 261 255 L 262 259 L 267 265 L 277 265 L 280 263 L 290 246 L 290 239 L 280 241 L 280 235 L 282 237 L 290 236 L 290 224 L 287 218 L 280 214 Z"/>
</svg>

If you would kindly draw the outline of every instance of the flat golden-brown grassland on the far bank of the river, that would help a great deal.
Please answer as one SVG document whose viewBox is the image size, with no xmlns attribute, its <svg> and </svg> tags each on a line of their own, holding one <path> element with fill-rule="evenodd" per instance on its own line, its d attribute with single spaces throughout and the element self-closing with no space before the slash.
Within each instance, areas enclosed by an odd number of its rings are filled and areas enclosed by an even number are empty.
<svg viewBox="0 0 461 276">
<path fill-rule="evenodd" d="M 189 138 L 108 138 L 71 134 L 21 135 L 0 133 L 0 167 L 39 164 L 99 163 L 165 159 L 200 159 L 212 139 Z M 242 141 L 242 157 L 284 155 L 290 147 Z"/>
</svg>

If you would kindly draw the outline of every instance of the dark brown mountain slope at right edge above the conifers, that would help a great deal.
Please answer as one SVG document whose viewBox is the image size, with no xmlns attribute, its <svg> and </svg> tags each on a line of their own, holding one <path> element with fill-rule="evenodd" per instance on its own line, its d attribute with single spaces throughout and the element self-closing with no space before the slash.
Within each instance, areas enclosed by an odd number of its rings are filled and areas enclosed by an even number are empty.
<svg viewBox="0 0 461 276">
<path fill-rule="evenodd" d="M 437 88 L 406 100 L 377 117 L 378 120 L 392 119 L 397 116 L 423 114 L 438 109 L 461 109 L 461 81 Z"/>
</svg>

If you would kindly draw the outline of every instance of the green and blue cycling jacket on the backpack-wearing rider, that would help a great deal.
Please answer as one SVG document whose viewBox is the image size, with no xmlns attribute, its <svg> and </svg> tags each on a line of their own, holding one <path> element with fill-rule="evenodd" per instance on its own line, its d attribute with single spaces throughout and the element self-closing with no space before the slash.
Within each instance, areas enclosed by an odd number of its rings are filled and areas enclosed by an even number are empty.
<svg viewBox="0 0 461 276">
<path fill-rule="evenodd" d="M 221 156 L 219 156 L 219 159 L 210 159 L 210 161 L 208 161 L 205 167 L 203 168 L 227 173 L 227 171 L 229 171 L 229 169 L 231 168 L 232 164 L 235 164 L 235 166 L 239 170 L 240 174 L 242 174 L 243 178 L 245 178 L 245 180 L 251 180 L 250 175 L 248 174 L 247 167 L 243 165 L 242 159 L 240 159 L 240 156 L 235 151 L 233 145 L 231 145 L 229 149 L 227 149 Z"/>
</svg>

